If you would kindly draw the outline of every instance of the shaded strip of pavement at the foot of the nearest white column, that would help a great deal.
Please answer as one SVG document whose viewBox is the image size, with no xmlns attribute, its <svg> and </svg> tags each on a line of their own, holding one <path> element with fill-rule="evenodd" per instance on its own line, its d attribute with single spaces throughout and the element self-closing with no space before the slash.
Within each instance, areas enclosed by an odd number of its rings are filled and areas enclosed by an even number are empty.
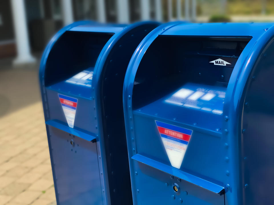
<svg viewBox="0 0 274 205">
<path fill-rule="evenodd" d="M 0 117 L 27 105 L 41 101 L 39 63 L 12 64 L 12 59 L 0 59 Z"/>
</svg>

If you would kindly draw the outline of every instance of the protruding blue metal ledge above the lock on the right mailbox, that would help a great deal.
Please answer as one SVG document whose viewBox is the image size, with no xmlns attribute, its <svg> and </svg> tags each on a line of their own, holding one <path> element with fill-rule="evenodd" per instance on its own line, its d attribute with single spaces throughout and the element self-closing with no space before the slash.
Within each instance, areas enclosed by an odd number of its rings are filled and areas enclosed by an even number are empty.
<svg viewBox="0 0 274 205">
<path fill-rule="evenodd" d="M 143 155 L 136 154 L 136 155 L 133 155 L 131 157 L 131 159 L 134 159 L 138 162 L 144 163 L 150 167 L 154 167 L 154 168 L 156 168 L 160 171 L 163 171 L 165 173 L 168 173 L 170 175 L 174 175 L 182 180 L 188 181 L 189 183 L 200 186 L 200 187 L 207 189 L 211 192 L 214 192 L 216 194 L 222 195 L 224 193 L 223 186 L 216 185 L 212 182 L 206 181 L 204 179 L 201 179 L 199 177 L 196 177 L 194 175 L 191 175 L 191 174 L 181 171 L 179 169 L 170 167 L 168 165 L 165 165 L 163 163 L 160 163 L 158 161 L 155 161 L 155 160 L 145 157 Z"/>
</svg>

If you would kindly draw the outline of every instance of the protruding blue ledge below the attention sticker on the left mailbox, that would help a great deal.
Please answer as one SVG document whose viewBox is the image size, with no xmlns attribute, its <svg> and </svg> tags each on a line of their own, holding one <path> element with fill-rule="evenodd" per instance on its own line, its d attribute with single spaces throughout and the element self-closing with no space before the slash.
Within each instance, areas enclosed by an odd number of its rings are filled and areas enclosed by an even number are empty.
<svg viewBox="0 0 274 205">
<path fill-rule="evenodd" d="M 79 138 L 82 138 L 84 140 L 90 141 L 90 142 L 96 142 L 96 138 L 94 136 L 91 136 L 89 134 L 86 134 L 84 132 L 81 132 L 79 130 L 76 130 L 75 128 L 70 128 L 66 125 L 61 124 L 60 122 L 57 122 L 55 120 L 48 120 L 46 121 L 47 125 L 50 125 L 52 127 L 55 127 L 59 130 L 62 130 L 64 132 L 67 132 L 69 134 L 75 135 Z"/>
</svg>

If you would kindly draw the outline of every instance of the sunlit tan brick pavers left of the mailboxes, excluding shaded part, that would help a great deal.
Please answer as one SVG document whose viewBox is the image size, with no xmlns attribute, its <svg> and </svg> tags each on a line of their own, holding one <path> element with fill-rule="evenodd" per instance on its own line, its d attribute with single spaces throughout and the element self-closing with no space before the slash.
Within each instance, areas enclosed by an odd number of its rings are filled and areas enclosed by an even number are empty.
<svg viewBox="0 0 274 205">
<path fill-rule="evenodd" d="M 41 102 L 0 118 L 0 204 L 56 204 Z"/>
</svg>

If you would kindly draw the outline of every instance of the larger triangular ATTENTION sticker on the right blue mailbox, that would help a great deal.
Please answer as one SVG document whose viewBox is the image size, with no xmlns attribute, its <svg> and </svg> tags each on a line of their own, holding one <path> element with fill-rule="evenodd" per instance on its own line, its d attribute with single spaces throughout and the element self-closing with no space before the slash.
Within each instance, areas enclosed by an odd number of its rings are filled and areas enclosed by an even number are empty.
<svg viewBox="0 0 274 205">
<path fill-rule="evenodd" d="M 193 130 L 156 120 L 155 122 L 172 167 L 180 169 Z"/>
</svg>

